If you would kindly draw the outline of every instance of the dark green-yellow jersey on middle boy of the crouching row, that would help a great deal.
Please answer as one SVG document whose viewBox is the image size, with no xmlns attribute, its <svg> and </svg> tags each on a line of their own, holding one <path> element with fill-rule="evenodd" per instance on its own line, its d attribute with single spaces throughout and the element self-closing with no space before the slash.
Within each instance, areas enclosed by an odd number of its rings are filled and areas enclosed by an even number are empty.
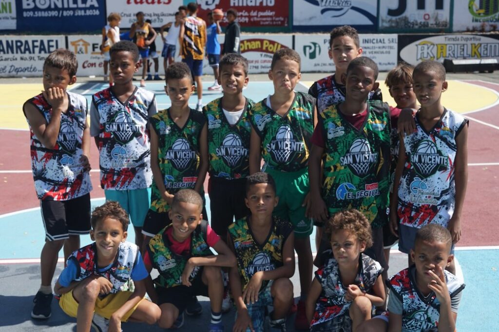
<svg viewBox="0 0 499 332">
<path fill-rule="evenodd" d="M 283 265 L 282 248 L 292 231 L 293 226 L 291 223 L 272 216 L 272 226 L 270 227 L 267 242 L 261 245 L 253 238 L 250 226 L 248 225 L 248 217 L 236 220 L 236 222 L 229 226 L 228 232 L 236 250 L 243 291 L 248 286 L 255 272 L 271 271 Z M 264 280 L 260 291 L 267 284 L 268 280 Z"/>
</svg>

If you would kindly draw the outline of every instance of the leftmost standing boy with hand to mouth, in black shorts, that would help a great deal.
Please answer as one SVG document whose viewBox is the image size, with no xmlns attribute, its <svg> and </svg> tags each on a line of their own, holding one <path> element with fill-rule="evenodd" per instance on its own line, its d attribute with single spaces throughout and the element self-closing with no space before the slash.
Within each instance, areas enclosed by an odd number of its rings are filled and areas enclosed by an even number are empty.
<svg viewBox="0 0 499 332">
<path fill-rule="evenodd" d="M 52 277 L 59 250 L 64 259 L 90 231 L 90 135 L 85 97 L 66 91 L 76 82 L 74 53 L 56 49 L 43 63 L 43 91 L 28 99 L 22 112 L 29 126 L 31 169 L 45 228 L 41 250 L 41 285 L 31 317 L 51 315 Z"/>
</svg>

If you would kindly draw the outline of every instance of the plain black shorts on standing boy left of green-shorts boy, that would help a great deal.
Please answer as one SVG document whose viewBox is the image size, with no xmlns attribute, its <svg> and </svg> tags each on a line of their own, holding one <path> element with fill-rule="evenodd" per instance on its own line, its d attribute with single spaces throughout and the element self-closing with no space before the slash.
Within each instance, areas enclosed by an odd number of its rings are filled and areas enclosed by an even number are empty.
<svg viewBox="0 0 499 332">
<path fill-rule="evenodd" d="M 227 242 L 227 227 L 236 220 L 247 216 L 250 209 L 246 206 L 246 177 L 225 179 L 210 176 L 208 180 L 210 195 L 211 226 L 222 240 Z"/>
</svg>

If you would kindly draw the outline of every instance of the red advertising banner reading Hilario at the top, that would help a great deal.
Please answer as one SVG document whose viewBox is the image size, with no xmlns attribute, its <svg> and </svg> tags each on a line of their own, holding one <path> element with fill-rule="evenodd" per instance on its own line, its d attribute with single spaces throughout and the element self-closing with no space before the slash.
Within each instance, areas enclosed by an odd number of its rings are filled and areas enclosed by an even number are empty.
<svg viewBox="0 0 499 332">
<path fill-rule="evenodd" d="M 199 17 L 206 20 L 209 11 L 219 8 L 238 11 L 238 22 L 243 27 L 288 26 L 289 2 L 282 0 L 197 0 Z M 222 20 L 226 25 L 227 17 Z"/>
</svg>

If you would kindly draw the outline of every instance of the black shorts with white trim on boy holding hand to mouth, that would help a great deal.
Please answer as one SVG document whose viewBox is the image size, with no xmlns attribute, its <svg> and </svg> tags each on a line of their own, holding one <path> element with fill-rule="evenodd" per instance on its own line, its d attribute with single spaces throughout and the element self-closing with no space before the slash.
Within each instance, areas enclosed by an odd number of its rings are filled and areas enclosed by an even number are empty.
<svg viewBox="0 0 499 332">
<path fill-rule="evenodd" d="M 40 200 L 41 219 L 47 241 L 90 233 L 90 194 L 70 200 Z"/>
</svg>

